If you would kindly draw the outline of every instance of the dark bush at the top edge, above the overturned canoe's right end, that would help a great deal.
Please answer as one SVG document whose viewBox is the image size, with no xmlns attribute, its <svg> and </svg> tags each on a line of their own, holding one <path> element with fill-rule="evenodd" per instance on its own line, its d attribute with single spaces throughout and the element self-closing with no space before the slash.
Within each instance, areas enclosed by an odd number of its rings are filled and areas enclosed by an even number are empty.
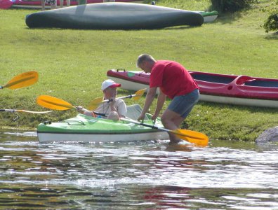
<svg viewBox="0 0 278 210">
<path fill-rule="evenodd" d="M 218 13 L 234 13 L 238 10 L 249 7 L 250 3 L 253 1 L 254 0 L 211 0 L 211 6 L 213 10 L 217 10 Z"/>
</svg>

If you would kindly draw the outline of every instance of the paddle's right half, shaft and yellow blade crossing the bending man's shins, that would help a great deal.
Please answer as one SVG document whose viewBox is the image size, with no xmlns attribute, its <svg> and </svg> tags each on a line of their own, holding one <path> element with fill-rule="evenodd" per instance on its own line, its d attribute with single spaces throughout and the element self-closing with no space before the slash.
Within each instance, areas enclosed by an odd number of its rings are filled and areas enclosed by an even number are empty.
<svg viewBox="0 0 278 210">
<path fill-rule="evenodd" d="M 127 118 L 120 118 L 123 121 L 129 122 L 129 123 L 134 123 L 137 125 L 143 125 L 145 127 L 151 127 L 153 129 L 157 130 L 163 130 L 165 132 L 170 132 L 172 134 L 176 134 L 176 136 L 180 139 L 183 139 L 185 141 L 188 141 L 192 144 L 195 144 L 197 146 L 208 146 L 209 144 L 209 137 L 206 136 L 206 134 L 202 134 L 200 132 L 195 132 L 192 130 L 184 130 L 184 129 L 177 129 L 177 130 L 168 130 L 164 127 L 157 127 L 154 125 L 148 125 L 145 123 L 140 123 L 135 120 L 127 119 Z"/>
</svg>

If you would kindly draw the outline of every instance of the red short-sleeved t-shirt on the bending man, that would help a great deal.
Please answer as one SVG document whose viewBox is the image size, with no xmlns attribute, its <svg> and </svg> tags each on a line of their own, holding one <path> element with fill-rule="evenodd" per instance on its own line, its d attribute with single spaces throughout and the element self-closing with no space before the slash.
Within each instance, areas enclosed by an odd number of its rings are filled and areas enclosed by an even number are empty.
<svg viewBox="0 0 278 210">
<path fill-rule="evenodd" d="M 154 64 L 150 75 L 150 87 L 160 87 L 170 99 L 199 89 L 185 67 L 168 60 L 159 60 Z"/>
</svg>

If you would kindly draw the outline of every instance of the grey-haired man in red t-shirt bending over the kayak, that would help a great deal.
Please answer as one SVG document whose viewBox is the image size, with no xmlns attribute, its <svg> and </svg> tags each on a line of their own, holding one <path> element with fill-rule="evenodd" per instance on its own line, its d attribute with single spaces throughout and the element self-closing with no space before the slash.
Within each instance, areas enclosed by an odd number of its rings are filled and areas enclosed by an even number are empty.
<svg viewBox="0 0 278 210">
<path fill-rule="evenodd" d="M 178 62 L 159 60 L 151 55 L 143 54 L 137 59 L 137 66 L 150 74 L 150 89 L 138 120 L 143 120 L 149 110 L 159 87 L 157 108 L 152 116 L 155 120 L 159 116 L 166 97 L 172 99 L 167 109 L 162 113 L 161 121 L 168 130 L 177 130 L 185 120 L 194 104 L 199 101 L 199 88 L 190 73 Z M 180 141 L 175 134 L 169 133 L 171 143 Z"/>
</svg>

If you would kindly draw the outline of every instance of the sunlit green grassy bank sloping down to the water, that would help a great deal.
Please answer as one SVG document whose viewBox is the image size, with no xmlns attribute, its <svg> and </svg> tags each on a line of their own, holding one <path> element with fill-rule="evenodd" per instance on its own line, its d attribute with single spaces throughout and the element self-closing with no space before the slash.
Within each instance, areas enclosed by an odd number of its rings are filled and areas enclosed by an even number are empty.
<svg viewBox="0 0 278 210">
<path fill-rule="evenodd" d="M 0 90 L 0 109 L 44 110 L 35 102 L 40 94 L 86 106 L 91 99 L 102 96 L 100 85 L 108 69 L 135 70 L 135 60 L 142 53 L 173 59 L 194 71 L 277 78 L 278 37 L 265 34 L 260 27 L 267 14 L 259 9 L 269 1 L 260 2 L 201 27 L 139 31 L 29 29 L 25 15 L 36 10 L 0 10 L 0 84 L 23 71 L 39 72 L 39 83 L 31 87 Z M 160 0 L 157 4 L 187 10 L 210 6 L 205 0 Z M 119 90 L 119 95 L 129 93 Z M 140 99 L 139 104 L 143 105 L 144 100 Z M 126 102 L 133 104 L 131 99 Z M 62 120 L 75 114 L 0 113 L 0 126 L 35 129 L 43 120 Z M 204 132 L 211 139 L 254 141 L 260 132 L 278 124 L 277 117 L 277 109 L 199 102 L 184 126 Z"/>
</svg>

